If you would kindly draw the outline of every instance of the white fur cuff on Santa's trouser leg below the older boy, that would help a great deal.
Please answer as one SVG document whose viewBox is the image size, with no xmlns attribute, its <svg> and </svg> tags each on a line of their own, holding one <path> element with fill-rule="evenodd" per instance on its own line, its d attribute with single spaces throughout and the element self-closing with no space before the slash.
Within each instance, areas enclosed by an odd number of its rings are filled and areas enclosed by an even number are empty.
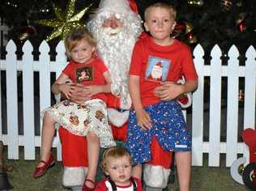
<svg viewBox="0 0 256 191">
<path fill-rule="evenodd" d="M 164 189 L 168 185 L 171 170 L 162 166 L 145 164 L 143 169 L 143 180 L 145 184 L 152 188 Z"/>
</svg>

